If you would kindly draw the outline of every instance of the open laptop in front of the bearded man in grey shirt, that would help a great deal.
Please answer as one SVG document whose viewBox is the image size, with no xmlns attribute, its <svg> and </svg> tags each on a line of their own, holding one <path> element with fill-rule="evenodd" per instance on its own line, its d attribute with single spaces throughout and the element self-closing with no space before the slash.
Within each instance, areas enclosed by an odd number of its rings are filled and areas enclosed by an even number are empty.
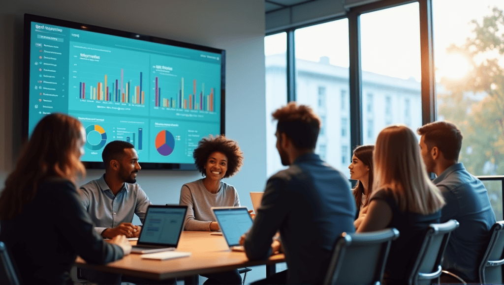
<svg viewBox="0 0 504 285">
<path fill-rule="evenodd" d="M 137 245 L 132 253 L 153 253 L 175 250 L 182 233 L 185 205 L 149 205 Z"/>
</svg>

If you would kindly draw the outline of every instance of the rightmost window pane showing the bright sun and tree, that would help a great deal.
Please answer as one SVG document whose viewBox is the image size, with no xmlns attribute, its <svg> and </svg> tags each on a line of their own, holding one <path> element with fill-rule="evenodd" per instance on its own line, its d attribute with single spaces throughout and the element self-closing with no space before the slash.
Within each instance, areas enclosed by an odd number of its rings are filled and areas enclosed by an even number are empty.
<svg viewBox="0 0 504 285">
<path fill-rule="evenodd" d="M 432 10 L 437 119 L 462 131 L 459 161 L 470 173 L 503 175 L 504 2 L 434 0 Z M 502 217 L 500 183 L 485 184 Z"/>
</svg>

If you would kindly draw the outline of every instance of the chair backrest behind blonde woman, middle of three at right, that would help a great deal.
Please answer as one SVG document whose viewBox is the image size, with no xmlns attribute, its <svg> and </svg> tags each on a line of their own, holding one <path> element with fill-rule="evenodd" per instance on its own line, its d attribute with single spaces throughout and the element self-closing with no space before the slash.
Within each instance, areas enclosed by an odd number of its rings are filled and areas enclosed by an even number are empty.
<svg viewBox="0 0 504 285">
<path fill-rule="evenodd" d="M 443 224 L 430 224 L 423 236 L 422 243 L 415 257 L 415 262 L 408 272 L 410 285 L 431 284 L 431 280 L 441 275 L 441 260 L 453 230 L 459 222 L 450 220 Z"/>
</svg>

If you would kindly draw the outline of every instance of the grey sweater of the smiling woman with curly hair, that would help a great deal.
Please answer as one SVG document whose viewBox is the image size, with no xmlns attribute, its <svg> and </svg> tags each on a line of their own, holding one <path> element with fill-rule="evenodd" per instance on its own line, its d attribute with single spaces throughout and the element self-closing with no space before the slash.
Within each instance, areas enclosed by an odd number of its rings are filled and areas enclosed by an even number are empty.
<svg viewBox="0 0 504 285">
<path fill-rule="evenodd" d="M 186 231 L 210 231 L 210 223 L 216 222 L 211 207 L 239 206 L 236 189 L 221 181 L 217 193 L 210 193 L 203 179 L 185 183 L 180 189 L 180 205 L 187 205 Z"/>
</svg>

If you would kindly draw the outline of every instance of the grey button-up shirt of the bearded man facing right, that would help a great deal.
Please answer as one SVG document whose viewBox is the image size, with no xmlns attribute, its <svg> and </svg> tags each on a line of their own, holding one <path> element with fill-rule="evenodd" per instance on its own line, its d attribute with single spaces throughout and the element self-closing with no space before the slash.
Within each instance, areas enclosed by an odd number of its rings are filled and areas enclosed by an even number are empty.
<svg viewBox="0 0 504 285">
<path fill-rule="evenodd" d="M 100 235 L 107 228 L 133 222 L 134 214 L 143 224 L 147 207 L 152 204 L 137 183 L 124 183 L 114 196 L 105 182 L 105 175 L 82 185 L 79 194 L 84 209 L 89 213 L 96 225 L 95 230 Z"/>
</svg>

